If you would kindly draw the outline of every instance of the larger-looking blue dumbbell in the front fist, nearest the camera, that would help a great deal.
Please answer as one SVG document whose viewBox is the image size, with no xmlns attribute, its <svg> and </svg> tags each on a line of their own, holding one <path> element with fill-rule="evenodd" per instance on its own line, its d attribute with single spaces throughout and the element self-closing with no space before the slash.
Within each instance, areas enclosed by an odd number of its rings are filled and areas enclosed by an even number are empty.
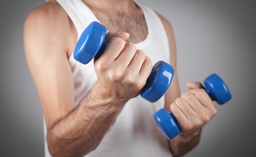
<svg viewBox="0 0 256 157">
<path fill-rule="evenodd" d="M 81 34 L 74 49 L 74 58 L 80 63 L 87 64 L 92 58 L 99 58 L 108 43 L 104 40 L 107 33 L 105 26 L 92 22 Z M 160 99 L 168 89 L 173 79 L 174 70 L 164 61 L 157 62 L 147 79 L 141 97 L 149 102 Z"/>
</svg>

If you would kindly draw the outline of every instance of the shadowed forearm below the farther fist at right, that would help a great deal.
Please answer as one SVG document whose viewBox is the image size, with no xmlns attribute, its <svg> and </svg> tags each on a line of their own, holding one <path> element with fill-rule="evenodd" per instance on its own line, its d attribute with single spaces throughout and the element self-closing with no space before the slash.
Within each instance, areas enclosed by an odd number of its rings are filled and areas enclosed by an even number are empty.
<svg viewBox="0 0 256 157">
<path fill-rule="evenodd" d="M 201 130 L 192 135 L 191 137 L 180 137 L 177 136 L 174 139 L 169 141 L 171 152 L 173 157 L 180 157 L 185 155 L 190 150 L 195 148 L 200 141 Z"/>
</svg>

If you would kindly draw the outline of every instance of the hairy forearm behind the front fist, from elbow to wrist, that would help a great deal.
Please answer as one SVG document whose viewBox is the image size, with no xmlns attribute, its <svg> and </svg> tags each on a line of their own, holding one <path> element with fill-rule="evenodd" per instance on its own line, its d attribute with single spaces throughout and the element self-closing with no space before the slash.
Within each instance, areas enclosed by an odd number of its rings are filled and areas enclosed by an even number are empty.
<svg viewBox="0 0 256 157">
<path fill-rule="evenodd" d="M 110 130 L 126 100 L 102 96 L 97 89 L 93 88 L 77 108 L 48 129 L 52 156 L 83 156 L 96 149 Z"/>
</svg>

